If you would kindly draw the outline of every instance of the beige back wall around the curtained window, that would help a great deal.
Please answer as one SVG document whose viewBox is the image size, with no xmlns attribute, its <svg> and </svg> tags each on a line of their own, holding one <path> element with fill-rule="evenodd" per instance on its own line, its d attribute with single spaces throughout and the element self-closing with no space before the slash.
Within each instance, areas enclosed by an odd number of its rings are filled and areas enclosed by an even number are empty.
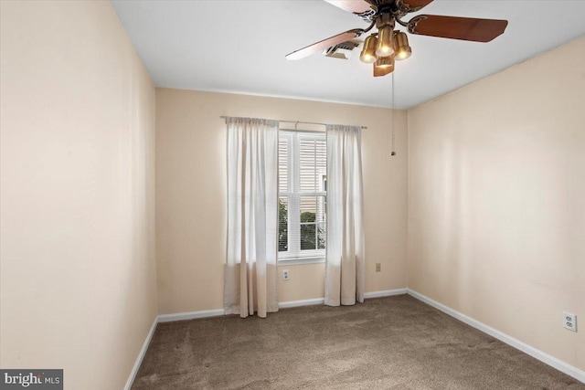
<svg viewBox="0 0 585 390">
<path fill-rule="evenodd" d="M 293 80 L 291 81 L 293 82 Z M 306 100 L 156 90 L 156 258 L 159 313 L 223 308 L 226 126 L 220 115 L 367 126 L 363 132 L 367 291 L 407 283 L 406 114 L 389 156 L 392 111 Z M 382 271 L 375 272 L 375 263 Z M 324 264 L 287 266 L 281 301 L 324 296 Z M 281 267 L 282 269 L 282 267 Z"/>
</svg>

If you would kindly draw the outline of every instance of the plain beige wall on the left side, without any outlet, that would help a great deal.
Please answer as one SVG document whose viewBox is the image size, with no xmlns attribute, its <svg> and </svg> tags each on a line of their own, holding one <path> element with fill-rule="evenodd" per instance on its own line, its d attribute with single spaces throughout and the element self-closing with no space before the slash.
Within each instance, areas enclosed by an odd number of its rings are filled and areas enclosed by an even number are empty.
<svg viewBox="0 0 585 390">
<path fill-rule="evenodd" d="M 0 366 L 121 389 L 156 316 L 154 86 L 109 2 L 0 7 Z"/>
</svg>

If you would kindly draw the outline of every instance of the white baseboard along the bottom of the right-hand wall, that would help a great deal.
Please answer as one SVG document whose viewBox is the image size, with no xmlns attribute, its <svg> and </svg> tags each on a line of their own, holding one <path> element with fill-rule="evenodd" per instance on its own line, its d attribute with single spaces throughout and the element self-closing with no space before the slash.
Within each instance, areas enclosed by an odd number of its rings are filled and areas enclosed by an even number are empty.
<svg viewBox="0 0 585 390">
<path fill-rule="evenodd" d="M 428 305 L 431 305 L 433 308 L 438 309 L 446 314 L 449 314 L 453 318 L 456 318 L 459 321 L 462 321 L 470 326 L 473 326 L 473 328 L 475 328 L 479 331 L 482 331 L 484 333 L 487 333 L 490 336 L 495 337 L 496 339 L 500 340 L 501 342 L 504 342 L 510 346 L 513 346 L 514 348 L 522 351 L 523 353 L 529 354 L 530 356 L 538 359 L 542 363 L 548 364 L 551 367 L 556 368 L 558 371 L 565 373 L 565 374 L 568 374 L 568 375 L 572 376 L 573 378 L 577 379 L 578 381 L 585 383 L 585 371 L 582 371 L 577 367 L 574 367 L 568 363 L 565 363 L 562 360 L 560 360 L 554 356 L 549 355 L 548 353 L 544 353 L 544 352 L 538 350 L 537 348 L 528 345 L 527 343 L 522 343 L 521 341 L 515 339 L 512 336 L 509 336 L 509 335 L 507 335 L 503 332 L 500 332 L 500 331 L 498 331 L 490 326 L 487 326 L 483 322 L 474 320 L 473 318 L 466 316 L 465 314 L 463 314 L 459 311 L 455 311 L 455 310 L 451 309 L 450 307 L 447 307 L 436 300 L 431 300 L 431 298 L 426 297 L 415 290 L 408 289 L 408 293 L 409 293 L 409 295 L 416 298 L 417 300 L 421 300 L 421 301 L 427 303 Z"/>
</svg>

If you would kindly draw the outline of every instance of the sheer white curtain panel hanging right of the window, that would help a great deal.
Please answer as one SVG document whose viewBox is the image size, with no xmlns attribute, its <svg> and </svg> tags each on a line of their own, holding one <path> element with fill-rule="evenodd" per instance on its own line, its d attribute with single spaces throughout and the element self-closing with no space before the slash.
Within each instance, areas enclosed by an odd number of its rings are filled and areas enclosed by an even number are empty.
<svg viewBox="0 0 585 390">
<path fill-rule="evenodd" d="M 364 301 L 361 128 L 327 125 L 325 304 Z"/>
</svg>

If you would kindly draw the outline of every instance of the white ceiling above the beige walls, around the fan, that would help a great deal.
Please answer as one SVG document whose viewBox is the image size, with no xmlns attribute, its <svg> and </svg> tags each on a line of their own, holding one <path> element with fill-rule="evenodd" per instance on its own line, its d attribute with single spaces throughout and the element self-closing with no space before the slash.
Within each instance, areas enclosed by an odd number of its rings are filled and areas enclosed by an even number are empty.
<svg viewBox="0 0 585 390">
<path fill-rule="evenodd" d="M 373 78 L 359 51 L 349 60 L 284 58 L 367 26 L 322 0 L 112 0 L 112 5 L 159 87 L 392 107 L 392 76 Z M 507 19 L 509 25 L 486 44 L 410 35 L 412 57 L 397 62 L 394 72 L 394 106 L 400 109 L 585 35 L 582 0 L 435 0 L 414 15 L 420 14 Z"/>
</svg>

